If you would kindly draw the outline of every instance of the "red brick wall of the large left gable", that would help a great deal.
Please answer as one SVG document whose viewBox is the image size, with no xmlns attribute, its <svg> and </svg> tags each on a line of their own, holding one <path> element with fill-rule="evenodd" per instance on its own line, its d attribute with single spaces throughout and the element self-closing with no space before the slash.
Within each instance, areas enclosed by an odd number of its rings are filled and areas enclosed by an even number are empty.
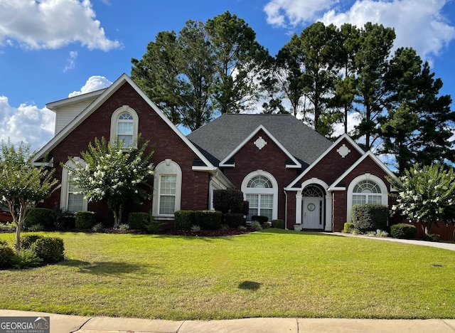
<svg viewBox="0 0 455 333">
<path fill-rule="evenodd" d="M 87 150 L 89 142 L 95 137 L 104 136 L 109 139 L 112 113 L 122 105 L 129 105 L 139 117 L 139 130 L 142 140 L 150 140 L 149 149 L 154 149 L 151 162 L 155 165 L 164 159 L 172 159 L 182 170 L 182 209 L 207 209 L 209 175 L 206 172 L 192 171 L 191 166 L 196 154 L 168 127 L 166 122 L 141 98 L 127 83 L 122 85 L 108 100 L 82 122 L 77 129 L 68 134 L 65 139 L 53 149 L 50 154 L 54 158 L 55 178 L 61 181 L 62 169 L 60 162 L 67 162 L 68 156 L 80 156 L 81 151 Z M 152 184 L 153 185 L 153 184 Z M 46 201 L 44 206 L 52 207 L 60 202 L 60 189 Z M 104 202 L 89 203 L 90 211 L 97 211 L 97 218 L 106 226 L 112 225 L 112 213 Z M 129 211 L 149 211 L 151 201 L 141 207 L 127 207 L 123 221 L 127 221 Z"/>
</svg>

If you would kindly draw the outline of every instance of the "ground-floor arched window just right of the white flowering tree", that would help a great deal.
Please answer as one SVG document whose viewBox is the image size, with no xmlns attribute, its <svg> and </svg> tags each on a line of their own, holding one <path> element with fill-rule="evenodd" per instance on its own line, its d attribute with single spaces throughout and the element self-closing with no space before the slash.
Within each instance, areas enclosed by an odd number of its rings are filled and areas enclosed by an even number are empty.
<svg viewBox="0 0 455 333">
<path fill-rule="evenodd" d="M 171 159 L 166 159 L 155 168 L 154 216 L 173 217 L 181 207 L 182 171 Z"/>
</svg>

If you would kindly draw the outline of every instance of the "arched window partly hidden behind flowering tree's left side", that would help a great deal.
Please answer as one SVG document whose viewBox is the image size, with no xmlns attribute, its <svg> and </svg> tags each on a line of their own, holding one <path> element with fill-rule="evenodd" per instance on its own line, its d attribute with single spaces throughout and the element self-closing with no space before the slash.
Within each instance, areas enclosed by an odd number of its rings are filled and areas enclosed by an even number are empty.
<svg viewBox="0 0 455 333">
<path fill-rule="evenodd" d="M 80 164 L 85 165 L 84 160 L 79 157 L 74 158 L 75 161 L 79 161 Z M 72 161 L 68 161 L 65 165 L 74 167 Z M 83 194 L 80 194 L 78 189 L 71 182 L 72 176 L 68 174 L 68 169 L 63 168 L 62 170 L 62 187 L 60 190 L 60 208 L 67 211 L 76 213 L 77 211 L 87 211 L 87 200 L 84 199 Z"/>
</svg>

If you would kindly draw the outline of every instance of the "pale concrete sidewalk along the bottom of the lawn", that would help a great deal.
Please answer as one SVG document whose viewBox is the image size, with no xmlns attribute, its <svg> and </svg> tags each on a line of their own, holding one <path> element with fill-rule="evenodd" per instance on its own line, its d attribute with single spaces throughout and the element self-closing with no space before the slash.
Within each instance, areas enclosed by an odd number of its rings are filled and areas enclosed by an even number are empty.
<svg viewBox="0 0 455 333">
<path fill-rule="evenodd" d="M 312 319 L 246 318 L 232 320 L 153 320 L 77 317 L 44 312 L 0 310 L 0 317 L 50 317 L 51 333 L 454 333 L 455 319 Z"/>
</svg>

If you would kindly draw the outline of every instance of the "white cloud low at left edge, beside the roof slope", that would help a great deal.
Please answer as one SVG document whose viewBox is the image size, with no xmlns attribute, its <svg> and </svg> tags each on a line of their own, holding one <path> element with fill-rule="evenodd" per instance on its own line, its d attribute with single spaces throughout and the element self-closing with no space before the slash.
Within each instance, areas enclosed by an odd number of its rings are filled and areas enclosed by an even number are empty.
<svg viewBox="0 0 455 333">
<path fill-rule="evenodd" d="M 55 114 L 36 105 L 9 105 L 8 97 L 0 95 L 0 140 L 8 139 L 14 145 L 25 142 L 31 145 L 31 151 L 40 149 L 54 134 Z"/>
</svg>

